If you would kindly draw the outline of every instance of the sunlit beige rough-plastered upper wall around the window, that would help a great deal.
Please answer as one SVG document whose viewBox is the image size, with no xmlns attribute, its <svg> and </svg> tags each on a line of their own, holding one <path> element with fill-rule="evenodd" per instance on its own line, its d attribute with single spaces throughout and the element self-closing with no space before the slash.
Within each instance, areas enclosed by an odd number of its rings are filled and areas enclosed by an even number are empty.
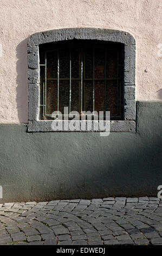
<svg viewBox="0 0 162 256">
<path fill-rule="evenodd" d="M 162 100 L 160 2 L 0 0 L 0 123 L 27 123 L 27 39 L 49 29 L 97 27 L 131 33 L 137 40 L 136 100 Z"/>
</svg>

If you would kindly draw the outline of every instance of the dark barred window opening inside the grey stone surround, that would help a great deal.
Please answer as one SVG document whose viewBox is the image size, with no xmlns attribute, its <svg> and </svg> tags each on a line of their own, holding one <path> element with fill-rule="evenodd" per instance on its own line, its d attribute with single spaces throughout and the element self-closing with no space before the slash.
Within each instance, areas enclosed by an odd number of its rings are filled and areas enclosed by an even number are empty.
<svg viewBox="0 0 162 256">
<path fill-rule="evenodd" d="M 40 118 L 54 111 L 110 111 L 123 119 L 124 44 L 71 40 L 40 45 Z"/>
</svg>

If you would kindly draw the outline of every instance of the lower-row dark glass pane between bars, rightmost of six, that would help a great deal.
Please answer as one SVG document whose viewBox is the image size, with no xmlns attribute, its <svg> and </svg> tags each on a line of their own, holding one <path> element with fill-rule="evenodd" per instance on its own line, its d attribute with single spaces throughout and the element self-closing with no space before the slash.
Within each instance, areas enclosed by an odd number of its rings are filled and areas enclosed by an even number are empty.
<svg viewBox="0 0 162 256">
<path fill-rule="evenodd" d="M 107 81 L 108 111 L 111 115 L 117 115 L 117 82 Z"/>
</svg>

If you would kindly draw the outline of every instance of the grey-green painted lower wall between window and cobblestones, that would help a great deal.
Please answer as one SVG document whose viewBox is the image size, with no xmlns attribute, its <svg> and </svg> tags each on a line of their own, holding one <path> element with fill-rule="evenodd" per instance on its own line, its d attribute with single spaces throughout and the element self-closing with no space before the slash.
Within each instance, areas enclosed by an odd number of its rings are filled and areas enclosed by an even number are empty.
<svg viewBox="0 0 162 256">
<path fill-rule="evenodd" d="M 0 125 L 0 202 L 157 196 L 162 102 L 137 102 L 137 132 L 28 133 Z"/>
</svg>

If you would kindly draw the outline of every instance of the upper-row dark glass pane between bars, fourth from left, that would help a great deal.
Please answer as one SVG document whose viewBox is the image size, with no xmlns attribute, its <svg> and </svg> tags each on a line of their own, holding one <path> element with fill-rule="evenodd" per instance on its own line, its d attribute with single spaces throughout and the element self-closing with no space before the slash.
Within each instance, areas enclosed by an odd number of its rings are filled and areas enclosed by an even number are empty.
<svg viewBox="0 0 162 256">
<path fill-rule="evenodd" d="M 93 78 L 93 48 L 83 48 L 83 77 Z"/>
</svg>

